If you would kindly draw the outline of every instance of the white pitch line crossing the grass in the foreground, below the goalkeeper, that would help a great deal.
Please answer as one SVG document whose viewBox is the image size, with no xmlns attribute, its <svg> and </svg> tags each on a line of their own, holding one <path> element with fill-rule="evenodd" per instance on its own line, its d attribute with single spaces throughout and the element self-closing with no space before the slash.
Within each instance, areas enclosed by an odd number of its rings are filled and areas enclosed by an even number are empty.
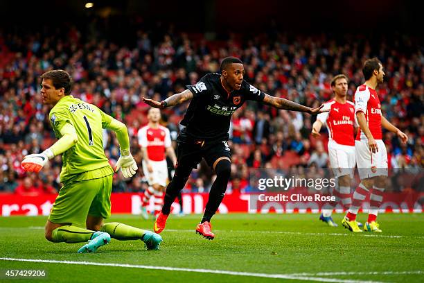
<svg viewBox="0 0 424 283">
<path fill-rule="evenodd" d="M 168 266 L 145 266 L 145 265 L 134 265 L 134 264 L 107 264 L 102 262 L 92 261 L 60 261 L 51 259 L 15 259 L 10 257 L 0 257 L 0 260 L 5 261 L 30 261 L 40 262 L 45 264 L 76 264 L 76 265 L 91 265 L 91 266 L 112 266 L 112 267 L 123 267 L 123 268 L 143 268 L 143 269 L 154 269 L 161 271 L 183 271 L 183 272 L 194 272 L 194 273 L 213 273 L 213 274 L 224 274 L 224 275 L 236 275 L 236 276 L 249 276 L 249 277 L 264 277 L 264 278 L 276 278 L 276 279 L 288 279 L 288 280 L 301 280 L 301 281 L 317 281 L 317 282 L 336 282 L 336 283 L 382 283 L 378 281 L 362 281 L 362 280 L 343 280 L 337 278 L 322 278 L 322 277 L 310 277 L 310 276 L 295 276 L 288 274 L 269 274 L 269 273 L 249 273 L 249 272 L 238 272 L 238 271 L 220 271 L 213 269 L 198 269 L 198 268 L 179 268 L 179 267 L 168 267 Z"/>
</svg>

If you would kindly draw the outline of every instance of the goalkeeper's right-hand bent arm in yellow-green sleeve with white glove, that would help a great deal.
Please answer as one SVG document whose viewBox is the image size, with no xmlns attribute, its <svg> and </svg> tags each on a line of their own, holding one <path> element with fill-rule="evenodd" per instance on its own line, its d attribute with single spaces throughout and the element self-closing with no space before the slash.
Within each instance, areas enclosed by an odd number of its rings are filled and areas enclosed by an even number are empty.
<svg viewBox="0 0 424 283">
<path fill-rule="evenodd" d="M 103 128 L 113 130 L 118 139 L 121 156 L 116 162 L 115 172 L 121 168 L 125 178 L 130 178 L 135 175 L 137 166 L 134 157 L 130 153 L 130 138 L 128 137 L 127 126 L 124 123 L 110 117 L 102 112 L 102 125 Z"/>
</svg>

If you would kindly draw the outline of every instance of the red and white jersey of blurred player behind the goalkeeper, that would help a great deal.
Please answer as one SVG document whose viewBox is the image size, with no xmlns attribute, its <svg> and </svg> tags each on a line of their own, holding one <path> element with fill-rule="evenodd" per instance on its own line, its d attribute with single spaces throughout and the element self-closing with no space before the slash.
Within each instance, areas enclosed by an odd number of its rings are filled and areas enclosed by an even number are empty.
<svg viewBox="0 0 424 283">
<path fill-rule="evenodd" d="M 140 146 L 147 148 L 149 160 L 165 160 L 165 149 L 171 146 L 168 128 L 160 125 L 158 128 L 144 126 L 139 130 L 138 136 Z"/>
</svg>

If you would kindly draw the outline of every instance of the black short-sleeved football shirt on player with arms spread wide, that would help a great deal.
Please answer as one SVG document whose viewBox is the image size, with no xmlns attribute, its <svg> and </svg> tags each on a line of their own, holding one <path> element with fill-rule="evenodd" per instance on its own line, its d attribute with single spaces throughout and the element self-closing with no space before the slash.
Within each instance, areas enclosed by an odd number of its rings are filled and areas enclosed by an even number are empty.
<svg viewBox="0 0 424 283">
<path fill-rule="evenodd" d="M 225 141 L 229 138 L 231 115 L 247 100 L 263 101 L 264 92 L 245 80 L 239 90 L 227 92 L 220 76 L 207 74 L 195 85 L 186 86 L 194 97 L 181 121 L 186 126 L 184 135 L 205 141 Z"/>
</svg>

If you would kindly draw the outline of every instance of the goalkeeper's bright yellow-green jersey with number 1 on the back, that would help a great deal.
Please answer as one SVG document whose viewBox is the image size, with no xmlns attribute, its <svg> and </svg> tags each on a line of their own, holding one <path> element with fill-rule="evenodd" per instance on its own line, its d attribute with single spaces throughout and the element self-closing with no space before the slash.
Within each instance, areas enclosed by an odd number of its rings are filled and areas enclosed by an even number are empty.
<svg viewBox="0 0 424 283">
<path fill-rule="evenodd" d="M 112 117 L 71 95 L 61 98 L 49 116 L 58 139 L 62 137 L 60 130 L 65 123 L 70 123 L 78 136 L 78 143 L 62 154 L 60 182 L 101 178 L 113 173 L 103 150 L 103 128 L 109 126 Z M 102 170 L 94 171 L 96 169 Z"/>
</svg>

